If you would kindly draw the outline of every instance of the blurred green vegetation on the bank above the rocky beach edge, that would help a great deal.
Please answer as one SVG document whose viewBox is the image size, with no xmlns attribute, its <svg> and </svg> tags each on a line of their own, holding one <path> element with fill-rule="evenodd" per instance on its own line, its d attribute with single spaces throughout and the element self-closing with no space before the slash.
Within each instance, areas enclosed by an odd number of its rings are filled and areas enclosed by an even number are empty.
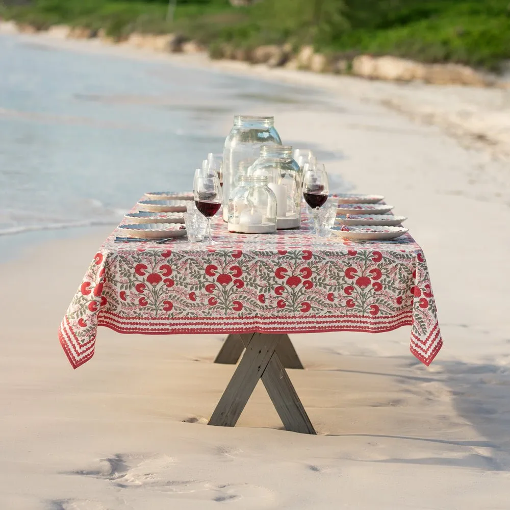
<svg viewBox="0 0 510 510">
<path fill-rule="evenodd" d="M 234 8 L 228 0 L 34 0 L 0 7 L 8 19 L 47 28 L 67 23 L 124 37 L 179 32 L 215 47 L 313 44 L 330 54 L 396 55 L 497 69 L 510 59 L 510 0 L 262 0 Z M 2 3 L 0 2 L 0 6 Z"/>
</svg>

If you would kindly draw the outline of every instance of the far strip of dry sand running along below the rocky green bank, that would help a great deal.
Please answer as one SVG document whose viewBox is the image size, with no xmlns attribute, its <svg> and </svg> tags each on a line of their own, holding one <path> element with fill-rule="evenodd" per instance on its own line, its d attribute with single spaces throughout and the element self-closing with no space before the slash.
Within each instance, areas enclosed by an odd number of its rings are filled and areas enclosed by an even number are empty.
<svg viewBox="0 0 510 510">
<path fill-rule="evenodd" d="M 510 86 L 480 88 L 419 81 L 393 82 L 285 67 L 271 68 L 266 64 L 212 60 L 203 52 L 168 53 L 139 48 L 129 41 L 115 43 L 97 37 L 68 38 L 65 32 L 59 30 L 27 34 L 13 31 L 11 23 L 0 21 L 2 34 L 44 41 L 61 49 L 164 60 L 180 66 L 214 69 L 263 81 L 314 87 L 382 105 L 414 121 L 436 125 L 466 148 L 487 151 L 491 158 L 510 161 Z"/>
</svg>

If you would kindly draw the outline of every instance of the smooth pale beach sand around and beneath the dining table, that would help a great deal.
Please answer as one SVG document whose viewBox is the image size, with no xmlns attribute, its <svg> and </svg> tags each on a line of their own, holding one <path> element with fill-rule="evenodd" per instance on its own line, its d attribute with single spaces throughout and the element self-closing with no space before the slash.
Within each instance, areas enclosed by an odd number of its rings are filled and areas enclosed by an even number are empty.
<svg viewBox="0 0 510 510">
<path fill-rule="evenodd" d="M 221 337 L 101 328 L 73 371 L 57 329 L 111 229 L 30 246 L 0 264 L 0 508 L 508 508 L 508 164 L 322 78 L 320 101 L 263 106 L 284 139 L 409 217 L 439 309 L 437 359 L 413 358 L 408 328 L 295 335 L 306 370 L 289 373 L 318 436 L 282 430 L 259 387 L 235 428 L 210 427 L 233 372 L 212 363 Z"/>
</svg>

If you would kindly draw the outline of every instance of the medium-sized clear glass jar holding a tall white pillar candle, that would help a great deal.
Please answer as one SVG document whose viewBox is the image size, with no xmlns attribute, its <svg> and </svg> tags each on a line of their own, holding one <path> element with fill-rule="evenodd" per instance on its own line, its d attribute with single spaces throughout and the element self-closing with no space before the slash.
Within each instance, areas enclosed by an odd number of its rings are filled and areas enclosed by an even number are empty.
<svg viewBox="0 0 510 510">
<path fill-rule="evenodd" d="M 276 195 L 277 228 L 299 227 L 302 170 L 292 157 L 292 146 L 264 145 L 249 173 L 268 177 L 269 187 Z"/>
</svg>

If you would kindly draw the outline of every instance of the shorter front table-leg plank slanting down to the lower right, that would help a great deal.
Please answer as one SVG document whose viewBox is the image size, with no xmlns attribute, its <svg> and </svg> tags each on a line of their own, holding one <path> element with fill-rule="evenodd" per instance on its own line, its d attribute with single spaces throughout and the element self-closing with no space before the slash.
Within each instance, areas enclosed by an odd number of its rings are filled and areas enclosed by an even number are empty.
<svg viewBox="0 0 510 510">
<path fill-rule="evenodd" d="M 262 373 L 262 382 L 286 430 L 315 434 L 314 426 L 276 350 Z"/>
</svg>

